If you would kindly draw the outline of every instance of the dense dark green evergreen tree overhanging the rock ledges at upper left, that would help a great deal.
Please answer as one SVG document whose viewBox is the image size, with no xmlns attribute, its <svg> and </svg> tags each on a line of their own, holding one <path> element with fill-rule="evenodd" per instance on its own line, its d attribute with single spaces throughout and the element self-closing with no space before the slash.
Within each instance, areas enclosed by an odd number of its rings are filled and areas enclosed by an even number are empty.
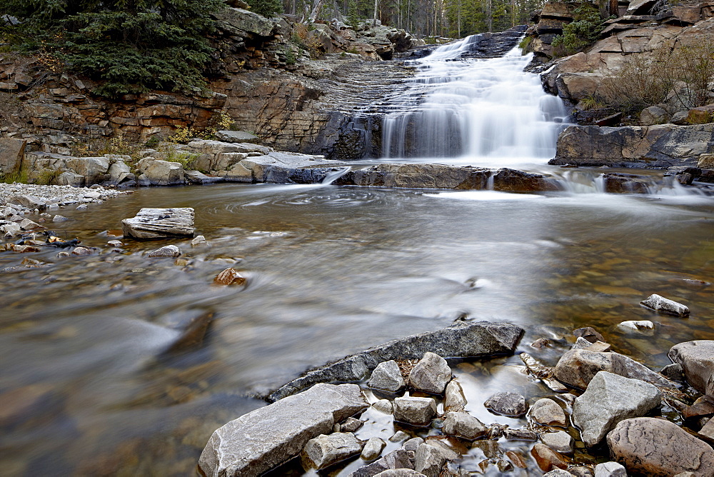
<svg viewBox="0 0 714 477">
<path fill-rule="evenodd" d="M 69 69 L 101 82 L 96 93 L 205 84 L 201 70 L 213 49 L 206 34 L 223 0 L 0 0 L 19 23 L 24 47 L 50 51 Z"/>
</svg>

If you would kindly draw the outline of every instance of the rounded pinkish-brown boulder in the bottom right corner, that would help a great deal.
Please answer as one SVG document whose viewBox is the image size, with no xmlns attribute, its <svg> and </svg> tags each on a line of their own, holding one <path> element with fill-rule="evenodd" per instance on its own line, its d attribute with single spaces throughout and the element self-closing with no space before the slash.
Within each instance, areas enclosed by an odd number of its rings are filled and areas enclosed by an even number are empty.
<svg viewBox="0 0 714 477">
<path fill-rule="evenodd" d="M 711 446 L 670 421 L 625 419 L 608 433 L 607 441 L 610 456 L 630 473 L 653 477 L 680 472 L 693 472 L 702 477 L 714 475 Z"/>
</svg>

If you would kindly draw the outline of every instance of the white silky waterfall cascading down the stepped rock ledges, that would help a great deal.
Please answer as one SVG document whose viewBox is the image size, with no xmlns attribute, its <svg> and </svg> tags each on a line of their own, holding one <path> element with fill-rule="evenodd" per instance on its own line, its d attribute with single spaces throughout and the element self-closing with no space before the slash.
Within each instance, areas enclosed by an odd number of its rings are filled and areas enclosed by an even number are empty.
<svg viewBox="0 0 714 477">
<path fill-rule="evenodd" d="M 531 55 L 518 48 L 500 58 L 460 59 L 478 38 L 417 60 L 421 71 L 392 97 L 383 119 L 383 158 L 499 166 L 545 164 L 555 156 L 568 116 L 562 101 L 523 71 Z"/>
</svg>

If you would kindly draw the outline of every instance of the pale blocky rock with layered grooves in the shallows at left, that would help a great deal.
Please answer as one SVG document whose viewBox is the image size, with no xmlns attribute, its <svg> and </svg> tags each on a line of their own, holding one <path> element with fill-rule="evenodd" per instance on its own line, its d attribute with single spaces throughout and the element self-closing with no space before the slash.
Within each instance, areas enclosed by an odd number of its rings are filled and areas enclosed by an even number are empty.
<svg viewBox="0 0 714 477">
<path fill-rule="evenodd" d="M 193 209 L 181 207 L 174 209 L 144 208 L 133 219 L 121 221 L 125 237 L 135 239 L 166 239 L 169 237 L 192 237 Z"/>
</svg>

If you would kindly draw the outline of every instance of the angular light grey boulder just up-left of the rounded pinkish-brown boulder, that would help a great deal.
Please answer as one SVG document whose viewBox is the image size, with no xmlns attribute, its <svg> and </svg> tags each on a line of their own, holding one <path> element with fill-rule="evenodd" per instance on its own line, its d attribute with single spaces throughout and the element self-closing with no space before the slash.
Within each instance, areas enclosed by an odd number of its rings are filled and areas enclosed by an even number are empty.
<svg viewBox="0 0 714 477">
<path fill-rule="evenodd" d="M 662 394 L 650 383 L 600 371 L 573 403 L 573 424 L 586 446 L 597 445 L 624 419 L 641 417 L 660 405 Z"/>
</svg>

